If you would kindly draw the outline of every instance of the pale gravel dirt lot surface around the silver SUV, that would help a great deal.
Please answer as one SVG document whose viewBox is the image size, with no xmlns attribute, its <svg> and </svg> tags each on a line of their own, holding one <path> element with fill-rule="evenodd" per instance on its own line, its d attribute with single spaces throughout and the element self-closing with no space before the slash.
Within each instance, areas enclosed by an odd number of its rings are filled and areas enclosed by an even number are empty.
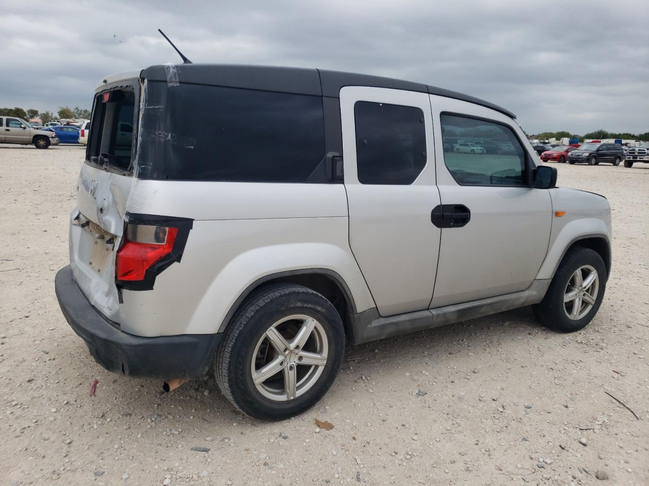
<svg viewBox="0 0 649 486">
<path fill-rule="evenodd" d="M 524 308 L 361 345 L 315 408 L 264 423 L 211 377 L 164 394 L 108 373 L 67 325 L 53 283 L 83 154 L 0 146 L 1 485 L 649 484 L 649 166 L 554 165 L 613 207 L 585 330 Z"/>
</svg>

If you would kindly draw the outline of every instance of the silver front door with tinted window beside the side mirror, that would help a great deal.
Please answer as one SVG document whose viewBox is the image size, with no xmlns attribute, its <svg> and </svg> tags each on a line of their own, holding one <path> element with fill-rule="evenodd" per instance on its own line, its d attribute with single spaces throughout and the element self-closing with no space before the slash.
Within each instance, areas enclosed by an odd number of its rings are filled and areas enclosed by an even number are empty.
<svg viewBox="0 0 649 486">
<path fill-rule="evenodd" d="M 520 127 L 495 110 L 431 96 L 443 211 L 431 307 L 524 290 L 548 249 L 552 202 L 528 185 L 536 157 Z M 448 137 L 481 137 L 502 154 L 443 152 Z"/>
</svg>

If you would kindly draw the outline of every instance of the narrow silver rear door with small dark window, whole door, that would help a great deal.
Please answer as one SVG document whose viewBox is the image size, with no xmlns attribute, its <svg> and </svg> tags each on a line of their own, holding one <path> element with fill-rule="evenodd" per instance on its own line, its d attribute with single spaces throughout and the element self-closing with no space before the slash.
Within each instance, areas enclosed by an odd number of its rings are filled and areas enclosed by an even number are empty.
<svg viewBox="0 0 649 486">
<path fill-rule="evenodd" d="M 382 316 L 424 310 L 441 233 L 428 94 L 343 87 L 340 110 L 352 253 Z"/>
</svg>

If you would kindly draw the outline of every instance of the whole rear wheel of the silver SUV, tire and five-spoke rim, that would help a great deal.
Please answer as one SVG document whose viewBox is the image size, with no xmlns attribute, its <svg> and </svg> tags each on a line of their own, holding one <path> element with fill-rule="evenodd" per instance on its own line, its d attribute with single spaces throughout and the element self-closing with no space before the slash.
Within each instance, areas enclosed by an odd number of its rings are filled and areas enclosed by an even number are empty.
<svg viewBox="0 0 649 486">
<path fill-rule="evenodd" d="M 263 421 L 294 417 L 330 388 L 343 362 L 345 330 L 330 301 L 310 288 L 276 284 L 250 295 L 217 351 L 217 383 L 236 408 Z"/>
</svg>

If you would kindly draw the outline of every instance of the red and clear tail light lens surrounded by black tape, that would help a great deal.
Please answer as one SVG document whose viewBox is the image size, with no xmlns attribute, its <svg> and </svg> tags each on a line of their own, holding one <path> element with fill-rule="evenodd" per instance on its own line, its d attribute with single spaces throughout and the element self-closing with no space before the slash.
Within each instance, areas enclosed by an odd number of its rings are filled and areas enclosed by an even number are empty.
<svg viewBox="0 0 649 486">
<path fill-rule="evenodd" d="M 158 260 L 171 253 L 178 228 L 129 224 L 124 243 L 117 251 L 117 280 L 144 280 Z"/>
</svg>

